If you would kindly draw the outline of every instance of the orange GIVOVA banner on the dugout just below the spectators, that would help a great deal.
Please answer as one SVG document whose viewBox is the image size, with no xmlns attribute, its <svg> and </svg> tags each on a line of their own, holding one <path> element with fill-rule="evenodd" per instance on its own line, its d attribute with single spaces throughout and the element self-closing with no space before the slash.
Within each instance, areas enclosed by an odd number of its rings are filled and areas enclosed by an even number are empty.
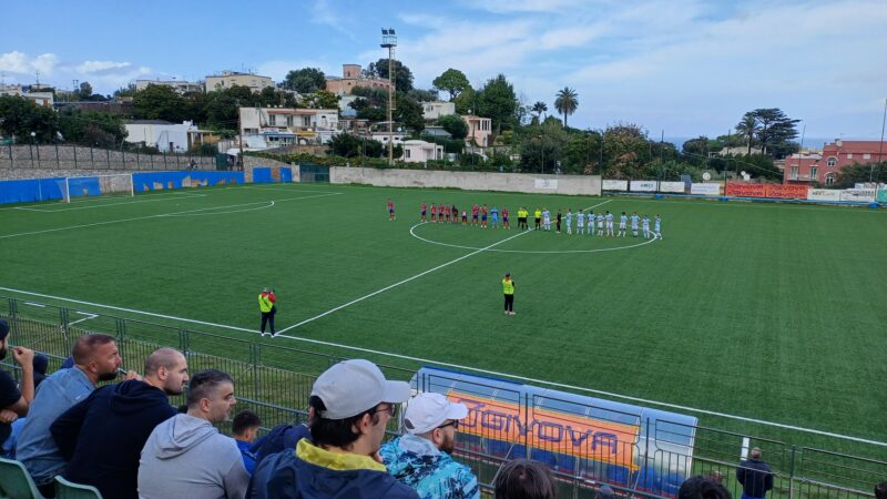
<svg viewBox="0 0 887 499">
<path fill-rule="evenodd" d="M 468 406 L 460 432 L 636 469 L 636 426 L 534 407 L 522 410 L 513 403 L 459 391 L 447 396 Z"/>
</svg>

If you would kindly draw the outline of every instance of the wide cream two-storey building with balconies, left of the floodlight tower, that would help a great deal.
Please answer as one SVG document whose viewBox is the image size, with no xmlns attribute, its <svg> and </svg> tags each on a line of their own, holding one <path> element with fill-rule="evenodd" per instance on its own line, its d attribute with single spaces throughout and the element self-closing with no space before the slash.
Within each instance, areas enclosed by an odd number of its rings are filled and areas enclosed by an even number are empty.
<svg viewBox="0 0 887 499">
<path fill-rule="evenodd" d="M 339 130 L 337 109 L 239 108 L 239 116 L 241 134 L 265 134 L 279 145 L 286 145 L 287 136 L 269 132 L 292 133 L 299 144 L 324 144 Z"/>
</svg>

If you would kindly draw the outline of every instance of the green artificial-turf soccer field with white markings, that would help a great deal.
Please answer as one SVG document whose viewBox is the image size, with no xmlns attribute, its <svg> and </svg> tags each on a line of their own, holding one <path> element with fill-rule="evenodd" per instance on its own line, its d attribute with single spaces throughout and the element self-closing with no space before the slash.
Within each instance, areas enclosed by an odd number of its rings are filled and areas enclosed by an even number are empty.
<svg viewBox="0 0 887 499">
<path fill-rule="evenodd" d="M 660 214 L 663 240 L 420 224 L 421 202 Z M 885 248 L 884 210 L 269 184 L 0 208 L 0 295 L 887 441 Z"/>
</svg>

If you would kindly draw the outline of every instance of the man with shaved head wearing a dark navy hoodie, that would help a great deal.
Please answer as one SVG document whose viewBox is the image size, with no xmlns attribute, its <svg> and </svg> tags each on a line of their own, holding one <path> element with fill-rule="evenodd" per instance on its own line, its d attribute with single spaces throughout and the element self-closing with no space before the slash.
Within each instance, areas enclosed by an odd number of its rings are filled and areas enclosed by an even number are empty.
<svg viewBox="0 0 887 499">
<path fill-rule="evenodd" d="M 62 456 L 63 476 L 91 485 L 102 497 L 135 499 L 139 455 L 154 427 L 175 416 L 169 395 L 187 383 L 185 356 L 160 348 L 145 360 L 144 380 L 103 386 L 50 426 Z"/>
</svg>

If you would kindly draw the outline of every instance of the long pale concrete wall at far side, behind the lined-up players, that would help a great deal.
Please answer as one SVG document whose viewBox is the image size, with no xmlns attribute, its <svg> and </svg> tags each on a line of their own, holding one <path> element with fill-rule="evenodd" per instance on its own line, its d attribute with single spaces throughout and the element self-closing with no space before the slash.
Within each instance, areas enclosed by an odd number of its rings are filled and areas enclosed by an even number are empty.
<svg viewBox="0 0 887 499">
<path fill-rule="evenodd" d="M 541 175 L 532 173 L 442 172 L 330 166 L 333 184 L 381 187 L 438 187 L 532 194 L 601 195 L 600 175 Z"/>
</svg>

